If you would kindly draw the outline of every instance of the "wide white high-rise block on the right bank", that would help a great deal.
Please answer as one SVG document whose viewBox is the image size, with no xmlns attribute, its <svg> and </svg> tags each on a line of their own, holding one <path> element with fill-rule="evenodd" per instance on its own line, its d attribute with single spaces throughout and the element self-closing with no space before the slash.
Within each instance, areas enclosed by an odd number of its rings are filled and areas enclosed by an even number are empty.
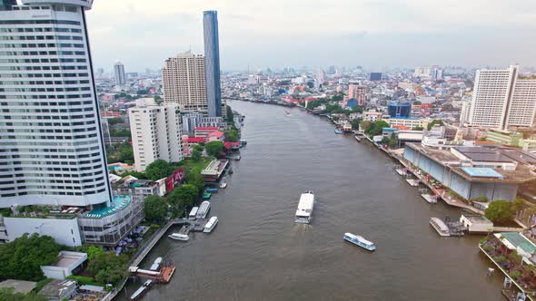
<svg viewBox="0 0 536 301">
<path fill-rule="evenodd" d="M 470 104 L 462 121 L 473 126 L 500 130 L 530 127 L 536 112 L 536 80 L 520 77 L 517 65 L 506 70 L 479 70 Z"/>
</svg>

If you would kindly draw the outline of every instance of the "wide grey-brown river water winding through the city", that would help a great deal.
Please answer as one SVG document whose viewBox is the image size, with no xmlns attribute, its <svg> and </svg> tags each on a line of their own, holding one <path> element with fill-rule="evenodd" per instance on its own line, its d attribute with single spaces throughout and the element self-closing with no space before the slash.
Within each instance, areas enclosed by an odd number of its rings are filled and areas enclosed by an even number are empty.
<svg viewBox="0 0 536 301">
<path fill-rule="evenodd" d="M 211 199 L 219 224 L 189 242 L 164 237 L 145 258 L 173 260 L 172 281 L 144 300 L 502 300 L 502 277 L 478 252 L 481 237 L 440 238 L 428 204 L 368 141 L 335 135 L 325 119 L 269 104 L 231 102 L 243 113 L 242 160 Z M 313 190 L 310 226 L 294 224 Z M 170 231 L 176 231 L 172 228 Z M 342 240 L 372 240 L 374 252 Z M 127 300 L 141 280 L 118 297 Z"/>
</svg>

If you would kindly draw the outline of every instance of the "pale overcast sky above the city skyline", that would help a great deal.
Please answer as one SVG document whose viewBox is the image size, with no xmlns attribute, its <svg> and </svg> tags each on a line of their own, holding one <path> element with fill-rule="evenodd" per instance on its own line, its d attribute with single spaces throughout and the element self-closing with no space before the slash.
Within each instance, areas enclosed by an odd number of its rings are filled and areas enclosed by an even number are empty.
<svg viewBox="0 0 536 301">
<path fill-rule="evenodd" d="M 223 70 L 536 66 L 536 0 L 95 0 L 95 66 L 143 72 L 203 53 L 204 10 L 218 11 Z"/>
</svg>

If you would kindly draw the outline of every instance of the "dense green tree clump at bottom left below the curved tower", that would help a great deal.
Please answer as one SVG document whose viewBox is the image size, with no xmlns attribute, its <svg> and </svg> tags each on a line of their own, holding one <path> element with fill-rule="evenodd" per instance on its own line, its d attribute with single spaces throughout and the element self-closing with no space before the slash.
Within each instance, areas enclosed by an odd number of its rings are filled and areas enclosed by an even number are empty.
<svg viewBox="0 0 536 301">
<path fill-rule="evenodd" d="M 0 245 L 0 277 L 39 281 L 44 278 L 41 266 L 55 263 L 62 248 L 65 247 L 54 238 L 25 233 L 13 242 Z"/>
</svg>

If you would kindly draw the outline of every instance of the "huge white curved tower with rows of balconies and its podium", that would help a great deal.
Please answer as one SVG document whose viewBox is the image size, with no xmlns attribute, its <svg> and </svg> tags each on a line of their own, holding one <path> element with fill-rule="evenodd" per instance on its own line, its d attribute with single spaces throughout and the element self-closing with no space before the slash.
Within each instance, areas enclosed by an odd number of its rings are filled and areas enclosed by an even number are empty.
<svg viewBox="0 0 536 301">
<path fill-rule="evenodd" d="M 115 246 L 143 203 L 112 196 L 108 181 L 85 22 L 93 1 L 21 2 L 0 10 L 0 208 L 11 209 L 0 241 Z"/>
</svg>

